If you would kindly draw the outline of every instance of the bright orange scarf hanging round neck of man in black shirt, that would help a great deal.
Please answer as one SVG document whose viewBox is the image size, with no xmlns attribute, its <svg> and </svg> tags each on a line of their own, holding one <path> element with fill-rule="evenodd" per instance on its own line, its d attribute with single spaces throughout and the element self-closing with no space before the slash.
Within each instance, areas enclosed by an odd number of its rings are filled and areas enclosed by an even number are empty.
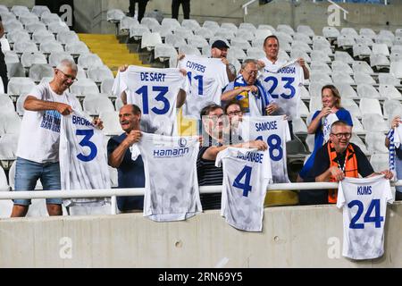
<svg viewBox="0 0 402 286">
<path fill-rule="evenodd" d="M 330 156 L 330 168 L 333 166 L 341 168 L 339 166 L 337 158 L 337 152 L 335 151 L 335 147 L 331 141 L 328 142 L 328 154 Z M 347 155 L 345 157 L 345 164 L 343 168 L 343 173 L 345 177 L 349 178 L 358 178 L 359 172 L 357 171 L 357 159 L 355 149 L 352 145 L 348 145 L 347 147 Z M 331 175 L 330 181 L 336 181 L 335 178 Z M 328 190 L 328 202 L 330 204 L 336 204 L 338 199 L 338 189 L 329 189 Z"/>
</svg>

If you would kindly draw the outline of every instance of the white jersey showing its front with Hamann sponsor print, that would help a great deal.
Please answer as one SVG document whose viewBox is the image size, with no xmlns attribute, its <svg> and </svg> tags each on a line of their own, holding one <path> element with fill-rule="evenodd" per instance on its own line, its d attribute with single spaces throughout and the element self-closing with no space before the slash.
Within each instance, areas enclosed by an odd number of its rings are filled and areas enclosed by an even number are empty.
<svg viewBox="0 0 402 286">
<path fill-rule="evenodd" d="M 198 138 L 143 133 L 136 145 L 146 176 L 144 216 L 155 222 L 172 222 L 202 212 L 197 181 Z"/>
</svg>

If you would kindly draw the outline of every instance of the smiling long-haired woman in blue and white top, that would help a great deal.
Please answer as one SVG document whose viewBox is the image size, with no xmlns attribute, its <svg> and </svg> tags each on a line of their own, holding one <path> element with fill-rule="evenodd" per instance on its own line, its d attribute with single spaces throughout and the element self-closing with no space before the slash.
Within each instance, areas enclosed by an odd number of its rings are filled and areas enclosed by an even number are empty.
<svg viewBox="0 0 402 286">
<path fill-rule="evenodd" d="M 306 180 L 308 172 L 313 168 L 315 153 L 330 139 L 332 123 L 343 120 L 348 122 L 350 126 L 353 126 L 352 117 L 348 110 L 340 107 L 340 95 L 337 88 L 333 85 L 322 87 L 321 98 L 322 110 L 317 110 L 315 112 L 307 130 L 308 134 L 315 134 L 314 150 L 302 170 L 299 172 L 297 182 Z"/>
</svg>

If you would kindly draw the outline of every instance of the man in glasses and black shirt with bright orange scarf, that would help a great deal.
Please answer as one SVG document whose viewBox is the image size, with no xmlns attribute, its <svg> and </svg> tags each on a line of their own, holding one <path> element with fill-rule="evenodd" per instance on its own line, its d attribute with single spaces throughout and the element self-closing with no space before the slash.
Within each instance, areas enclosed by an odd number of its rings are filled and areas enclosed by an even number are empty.
<svg viewBox="0 0 402 286">
<path fill-rule="evenodd" d="M 358 178 L 359 174 L 363 178 L 374 175 L 384 174 L 385 179 L 392 179 L 392 172 L 385 170 L 374 172 L 373 166 L 364 156 L 362 150 L 353 143 L 349 143 L 352 137 L 352 127 L 347 122 L 333 122 L 331 126 L 330 140 L 317 151 L 314 159 L 313 169 L 309 177 L 315 181 L 342 181 L 345 177 Z M 338 198 L 337 189 L 328 189 L 320 193 L 316 192 L 317 204 L 335 204 Z M 301 193 L 302 196 L 303 191 Z M 323 195 L 323 196 L 322 196 Z"/>
</svg>

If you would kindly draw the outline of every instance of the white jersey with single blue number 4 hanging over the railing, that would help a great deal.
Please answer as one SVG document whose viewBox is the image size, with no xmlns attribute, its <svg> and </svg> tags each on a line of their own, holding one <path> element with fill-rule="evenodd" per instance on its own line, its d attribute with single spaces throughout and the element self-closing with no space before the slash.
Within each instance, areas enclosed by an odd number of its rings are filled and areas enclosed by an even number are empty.
<svg viewBox="0 0 402 286">
<path fill-rule="evenodd" d="M 263 231 L 264 199 L 272 180 L 268 151 L 229 147 L 219 152 L 223 163 L 221 215 L 241 231 Z"/>
</svg>

